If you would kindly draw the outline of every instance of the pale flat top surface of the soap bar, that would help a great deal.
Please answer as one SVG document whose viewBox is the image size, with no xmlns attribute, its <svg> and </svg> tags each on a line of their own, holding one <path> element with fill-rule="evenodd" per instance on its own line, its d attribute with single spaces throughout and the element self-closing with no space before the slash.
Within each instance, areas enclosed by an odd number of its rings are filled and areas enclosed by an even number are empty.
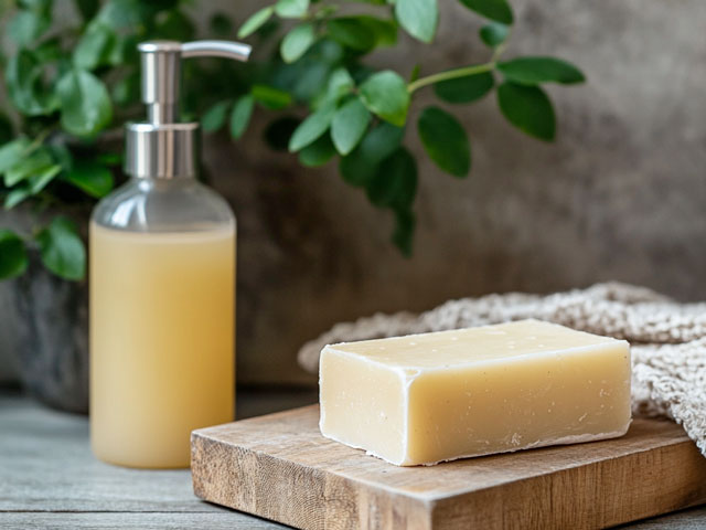
<svg viewBox="0 0 706 530">
<path fill-rule="evenodd" d="M 623 342 L 576 331 L 542 320 L 518 320 L 494 326 L 408 335 L 386 339 L 342 342 L 328 349 L 353 353 L 400 369 L 448 369 L 537 353 L 564 353 L 600 344 Z"/>
</svg>

